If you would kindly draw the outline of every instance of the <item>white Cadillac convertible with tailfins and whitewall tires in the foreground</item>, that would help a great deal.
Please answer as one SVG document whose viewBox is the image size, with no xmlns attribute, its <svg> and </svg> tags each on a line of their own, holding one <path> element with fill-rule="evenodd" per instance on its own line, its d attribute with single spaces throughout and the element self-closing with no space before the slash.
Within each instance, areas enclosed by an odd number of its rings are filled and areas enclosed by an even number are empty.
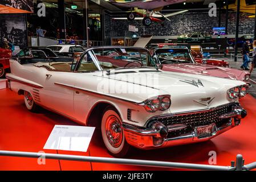
<svg viewBox="0 0 256 182">
<path fill-rule="evenodd" d="M 77 63 L 10 60 L 9 87 L 37 106 L 101 128 L 113 156 L 130 146 L 169 147 L 209 140 L 246 116 L 242 81 L 158 69 L 147 49 L 87 49 Z"/>
</svg>

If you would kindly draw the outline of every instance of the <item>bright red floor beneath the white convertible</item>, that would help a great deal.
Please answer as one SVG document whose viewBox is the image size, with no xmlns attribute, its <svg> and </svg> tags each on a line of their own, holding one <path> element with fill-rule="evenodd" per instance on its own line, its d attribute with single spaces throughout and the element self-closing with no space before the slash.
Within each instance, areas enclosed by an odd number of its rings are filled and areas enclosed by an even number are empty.
<svg viewBox="0 0 256 182">
<path fill-rule="evenodd" d="M 237 154 L 242 154 L 245 164 L 256 161 L 256 102 L 247 95 L 241 105 L 247 110 L 247 117 L 240 126 L 204 143 L 188 144 L 159 150 L 142 151 L 134 149 L 128 158 L 162 160 L 208 164 L 209 151 L 217 152 L 217 165 L 230 166 Z M 58 114 L 42 109 L 31 113 L 26 109 L 23 97 L 7 89 L 0 90 L 0 150 L 44 151 L 54 154 L 74 154 L 86 156 L 111 157 L 101 141 L 99 130 L 94 136 L 87 152 L 43 150 L 48 135 L 54 125 L 78 125 Z M 0 170 L 159 170 L 151 168 L 104 164 L 90 162 L 70 162 L 46 159 L 39 165 L 37 159 L 0 156 Z M 170 170 L 170 169 L 169 169 Z"/>
</svg>

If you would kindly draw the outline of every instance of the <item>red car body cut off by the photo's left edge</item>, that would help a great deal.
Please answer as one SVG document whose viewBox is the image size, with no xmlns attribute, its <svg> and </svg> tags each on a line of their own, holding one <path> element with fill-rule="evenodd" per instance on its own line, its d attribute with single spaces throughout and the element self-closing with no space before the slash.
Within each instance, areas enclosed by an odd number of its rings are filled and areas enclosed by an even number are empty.
<svg viewBox="0 0 256 182">
<path fill-rule="evenodd" d="M 10 69 L 10 58 L 11 50 L 0 48 L 0 78 L 5 77 L 6 71 Z"/>
</svg>

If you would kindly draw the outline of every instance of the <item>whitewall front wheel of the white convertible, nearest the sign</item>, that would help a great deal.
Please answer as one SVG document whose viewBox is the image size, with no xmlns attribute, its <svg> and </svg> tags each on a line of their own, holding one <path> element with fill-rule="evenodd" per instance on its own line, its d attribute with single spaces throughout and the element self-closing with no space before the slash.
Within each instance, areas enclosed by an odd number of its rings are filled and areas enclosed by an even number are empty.
<svg viewBox="0 0 256 182">
<path fill-rule="evenodd" d="M 108 106 L 103 111 L 101 136 L 109 154 L 116 158 L 123 158 L 131 148 L 125 140 L 124 131 L 121 127 L 121 117 L 115 107 Z M 114 139 L 115 142 L 113 142 Z M 110 140 L 112 140 L 112 143 Z"/>
</svg>

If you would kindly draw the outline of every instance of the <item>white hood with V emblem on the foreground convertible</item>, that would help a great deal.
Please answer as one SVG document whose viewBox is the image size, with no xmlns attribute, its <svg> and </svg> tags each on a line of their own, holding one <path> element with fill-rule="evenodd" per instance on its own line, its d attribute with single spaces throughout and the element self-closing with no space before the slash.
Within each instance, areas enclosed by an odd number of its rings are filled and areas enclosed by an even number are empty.
<svg viewBox="0 0 256 182">
<path fill-rule="evenodd" d="M 145 69 L 133 69 L 133 71 L 126 69 L 116 71 L 115 75 L 104 74 L 98 77 L 103 79 L 103 84 L 112 85 L 111 88 L 115 88 L 115 92 L 107 93 L 109 96 L 123 100 L 140 103 L 148 98 L 169 94 L 172 100 L 170 112 L 201 110 L 227 104 L 230 102 L 226 94 L 227 89 L 245 84 L 242 81 L 209 76 L 145 71 Z M 197 102 L 205 97 L 213 99 L 209 105 Z"/>
</svg>

